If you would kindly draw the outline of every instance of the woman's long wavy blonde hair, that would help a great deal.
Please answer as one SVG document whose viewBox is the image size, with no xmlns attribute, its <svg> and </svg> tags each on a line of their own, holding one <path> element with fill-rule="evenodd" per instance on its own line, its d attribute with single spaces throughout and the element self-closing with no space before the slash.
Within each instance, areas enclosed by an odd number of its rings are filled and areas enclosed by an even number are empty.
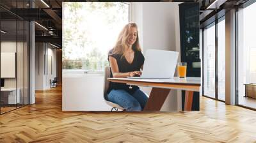
<svg viewBox="0 0 256 143">
<path fill-rule="evenodd" d="M 121 33 L 119 34 L 118 39 L 116 41 L 116 45 L 113 48 L 112 54 L 121 54 L 122 56 L 124 55 L 125 47 L 128 47 L 127 38 L 129 37 L 129 31 L 131 30 L 132 27 L 136 27 L 137 29 L 137 38 L 135 43 L 132 45 L 132 49 L 141 51 L 138 36 L 138 26 L 135 23 L 129 23 L 124 26 Z"/>
</svg>

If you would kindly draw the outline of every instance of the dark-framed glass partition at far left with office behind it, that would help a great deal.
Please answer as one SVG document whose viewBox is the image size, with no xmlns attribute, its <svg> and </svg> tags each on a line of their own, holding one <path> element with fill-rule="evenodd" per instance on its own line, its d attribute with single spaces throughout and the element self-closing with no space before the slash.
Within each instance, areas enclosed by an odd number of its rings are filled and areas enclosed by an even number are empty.
<svg viewBox="0 0 256 143">
<path fill-rule="evenodd" d="M 8 6 L 13 11 L 25 10 L 28 2 L 12 1 Z M 29 22 L 4 8 L 0 11 L 0 79 L 1 87 L 6 90 L 0 92 L 0 114 L 3 114 L 29 104 Z"/>
</svg>

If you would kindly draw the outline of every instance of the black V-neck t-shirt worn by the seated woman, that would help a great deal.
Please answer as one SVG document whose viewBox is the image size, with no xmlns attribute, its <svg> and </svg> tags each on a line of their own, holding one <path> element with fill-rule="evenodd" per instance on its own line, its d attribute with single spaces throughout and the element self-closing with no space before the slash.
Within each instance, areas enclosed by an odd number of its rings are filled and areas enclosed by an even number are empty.
<svg viewBox="0 0 256 143">
<path fill-rule="evenodd" d="M 120 73 L 140 71 L 141 66 L 143 66 L 143 64 L 144 64 L 145 58 L 144 58 L 143 54 L 141 53 L 141 51 L 134 50 L 134 59 L 133 59 L 131 64 L 128 63 L 128 61 L 125 59 L 125 57 L 122 56 L 121 54 L 112 54 L 112 53 L 113 53 L 113 49 L 109 51 L 108 57 L 111 56 L 111 57 L 114 57 L 116 59 L 116 62 L 117 62 L 117 65 L 118 65 L 118 71 Z M 108 61 L 109 61 L 109 58 L 108 58 Z M 112 71 L 111 71 L 111 77 L 113 77 Z M 112 89 L 124 89 L 128 93 L 133 94 L 134 91 L 139 89 L 139 87 L 138 86 L 132 86 L 132 88 L 130 89 L 127 84 L 120 84 L 120 83 L 116 83 L 116 82 L 110 82 L 108 93 Z"/>
</svg>

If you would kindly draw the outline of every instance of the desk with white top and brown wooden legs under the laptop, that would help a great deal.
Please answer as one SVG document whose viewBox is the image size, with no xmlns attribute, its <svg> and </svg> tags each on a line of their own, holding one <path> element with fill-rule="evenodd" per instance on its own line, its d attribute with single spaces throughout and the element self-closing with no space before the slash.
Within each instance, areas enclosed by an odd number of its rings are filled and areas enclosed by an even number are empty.
<svg viewBox="0 0 256 143">
<path fill-rule="evenodd" d="M 160 110 L 171 89 L 181 89 L 186 91 L 185 110 L 191 110 L 193 103 L 193 92 L 200 91 L 200 77 L 187 77 L 186 79 L 128 79 L 128 78 L 108 78 L 111 82 L 125 83 L 135 86 L 153 87 L 144 110 Z"/>
</svg>

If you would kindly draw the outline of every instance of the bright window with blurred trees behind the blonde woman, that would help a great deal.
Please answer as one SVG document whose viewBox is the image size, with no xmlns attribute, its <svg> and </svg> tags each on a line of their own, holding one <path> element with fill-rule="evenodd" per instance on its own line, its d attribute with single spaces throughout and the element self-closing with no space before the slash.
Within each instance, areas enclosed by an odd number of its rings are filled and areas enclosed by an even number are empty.
<svg viewBox="0 0 256 143">
<path fill-rule="evenodd" d="M 103 71 L 128 22 L 126 3 L 63 3 L 63 69 Z"/>
</svg>

